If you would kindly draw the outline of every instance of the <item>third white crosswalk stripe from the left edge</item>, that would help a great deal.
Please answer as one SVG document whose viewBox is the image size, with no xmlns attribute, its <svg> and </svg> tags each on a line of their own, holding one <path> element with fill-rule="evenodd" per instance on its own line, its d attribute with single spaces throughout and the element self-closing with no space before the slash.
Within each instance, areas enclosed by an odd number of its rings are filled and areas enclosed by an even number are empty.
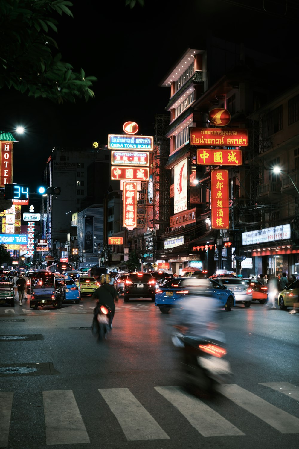
<svg viewBox="0 0 299 449">
<path fill-rule="evenodd" d="M 166 440 L 169 436 L 128 388 L 99 388 L 126 439 Z"/>
</svg>

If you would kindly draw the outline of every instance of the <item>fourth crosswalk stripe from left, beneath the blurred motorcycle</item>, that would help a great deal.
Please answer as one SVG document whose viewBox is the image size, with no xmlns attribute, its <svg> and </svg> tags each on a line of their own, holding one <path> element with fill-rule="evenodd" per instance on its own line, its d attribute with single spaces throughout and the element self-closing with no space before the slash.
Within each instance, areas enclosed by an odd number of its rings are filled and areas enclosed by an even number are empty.
<svg viewBox="0 0 299 449">
<path fill-rule="evenodd" d="M 237 427 L 181 387 L 154 387 L 203 436 L 244 435 Z"/>
</svg>

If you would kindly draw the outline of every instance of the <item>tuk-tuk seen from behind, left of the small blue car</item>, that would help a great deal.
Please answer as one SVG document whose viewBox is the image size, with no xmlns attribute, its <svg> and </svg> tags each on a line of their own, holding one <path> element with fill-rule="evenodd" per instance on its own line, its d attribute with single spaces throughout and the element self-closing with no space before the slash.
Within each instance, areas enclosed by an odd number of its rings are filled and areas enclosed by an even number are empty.
<svg viewBox="0 0 299 449">
<path fill-rule="evenodd" d="M 28 275 L 30 286 L 30 308 L 52 305 L 61 308 L 65 299 L 65 278 L 60 273 L 36 271 Z"/>
</svg>

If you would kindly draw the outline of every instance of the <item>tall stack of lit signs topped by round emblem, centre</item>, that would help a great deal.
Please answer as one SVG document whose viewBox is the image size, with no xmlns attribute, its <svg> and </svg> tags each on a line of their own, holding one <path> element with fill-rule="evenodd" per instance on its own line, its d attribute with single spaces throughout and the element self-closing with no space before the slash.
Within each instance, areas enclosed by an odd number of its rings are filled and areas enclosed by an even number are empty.
<svg viewBox="0 0 299 449">
<path fill-rule="evenodd" d="M 111 179 L 121 181 L 123 226 L 128 229 L 138 225 L 137 190 L 141 182 L 149 180 L 149 151 L 153 150 L 154 142 L 153 136 L 136 136 L 138 130 L 137 123 L 128 121 L 123 125 L 126 134 L 108 135 L 108 149 L 113 150 Z"/>
</svg>

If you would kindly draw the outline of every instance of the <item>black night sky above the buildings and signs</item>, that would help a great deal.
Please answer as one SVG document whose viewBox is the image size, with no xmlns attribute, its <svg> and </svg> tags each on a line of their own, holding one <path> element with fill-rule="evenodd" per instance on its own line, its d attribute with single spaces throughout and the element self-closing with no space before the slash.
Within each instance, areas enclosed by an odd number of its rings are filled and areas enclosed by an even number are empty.
<svg viewBox="0 0 299 449">
<path fill-rule="evenodd" d="M 95 99 L 57 106 L 1 89 L 0 129 L 21 124 L 27 130 L 14 134 L 19 143 L 13 182 L 29 183 L 31 189 L 41 184 L 53 147 L 89 148 L 95 140 L 106 144 L 107 135 L 122 133 L 127 120 L 139 124 L 139 134 L 152 135 L 155 114 L 165 113 L 170 96 L 170 89 L 158 86 L 160 80 L 188 47 L 203 48 L 209 36 L 274 56 L 298 53 L 296 0 L 145 0 L 143 8 L 136 4 L 134 9 L 114 0 L 102 3 L 100 11 L 99 2 L 74 3 L 74 19 L 56 17 L 53 37 L 64 61 L 98 79 Z M 283 82 L 281 67 L 275 76 Z"/>
</svg>

